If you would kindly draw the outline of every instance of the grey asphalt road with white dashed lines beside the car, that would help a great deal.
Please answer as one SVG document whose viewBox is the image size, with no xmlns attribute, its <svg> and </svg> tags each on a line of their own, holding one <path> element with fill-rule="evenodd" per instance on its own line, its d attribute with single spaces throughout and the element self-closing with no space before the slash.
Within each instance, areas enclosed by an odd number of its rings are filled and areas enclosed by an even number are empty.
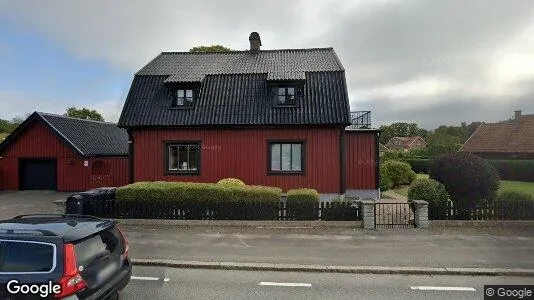
<svg viewBox="0 0 534 300">
<path fill-rule="evenodd" d="M 162 267 L 134 267 L 133 276 L 122 299 L 483 299 L 484 285 L 487 284 L 534 284 L 532 277 L 357 275 Z"/>
</svg>

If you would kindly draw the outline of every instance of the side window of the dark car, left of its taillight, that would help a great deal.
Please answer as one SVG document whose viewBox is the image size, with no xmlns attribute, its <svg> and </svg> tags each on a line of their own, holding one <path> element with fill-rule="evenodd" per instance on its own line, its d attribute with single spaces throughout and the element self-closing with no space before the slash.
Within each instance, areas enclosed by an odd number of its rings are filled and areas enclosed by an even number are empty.
<svg viewBox="0 0 534 300">
<path fill-rule="evenodd" d="M 0 240 L 0 272 L 51 272 L 55 267 L 55 245 L 31 241 Z"/>
</svg>

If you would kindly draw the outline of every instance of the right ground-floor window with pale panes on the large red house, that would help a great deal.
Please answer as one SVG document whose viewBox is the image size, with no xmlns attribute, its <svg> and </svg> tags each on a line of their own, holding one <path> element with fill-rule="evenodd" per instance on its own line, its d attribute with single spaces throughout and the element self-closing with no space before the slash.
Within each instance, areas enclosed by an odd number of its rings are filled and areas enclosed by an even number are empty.
<svg viewBox="0 0 534 300">
<path fill-rule="evenodd" d="M 304 170 L 303 142 L 270 142 L 269 171 L 272 173 L 302 173 Z"/>
</svg>

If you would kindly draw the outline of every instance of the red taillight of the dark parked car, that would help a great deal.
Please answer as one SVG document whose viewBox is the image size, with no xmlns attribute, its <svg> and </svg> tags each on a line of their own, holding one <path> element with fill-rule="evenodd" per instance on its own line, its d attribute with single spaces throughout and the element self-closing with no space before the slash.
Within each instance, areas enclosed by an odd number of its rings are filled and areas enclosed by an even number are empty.
<svg viewBox="0 0 534 300">
<path fill-rule="evenodd" d="M 83 290 L 87 283 L 83 280 L 78 266 L 76 264 L 76 255 L 74 253 L 73 244 L 65 244 L 64 247 L 64 272 L 59 280 L 61 286 L 61 293 L 56 294 L 56 298 L 63 298 Z"/>
</svg>

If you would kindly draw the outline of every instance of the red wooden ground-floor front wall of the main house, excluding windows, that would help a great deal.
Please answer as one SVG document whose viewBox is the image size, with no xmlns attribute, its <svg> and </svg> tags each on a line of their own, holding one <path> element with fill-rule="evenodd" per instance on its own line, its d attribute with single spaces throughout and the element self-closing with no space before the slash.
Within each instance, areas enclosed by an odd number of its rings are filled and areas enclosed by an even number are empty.
<svg viewBox="0 0 534 300">
<path fill-rule="evenodd" d="M 235 177 L 246 184 L 340 192 L 340 128 L 145 129 L 135 130 L 135 181 L 217 182 Z M 201 141 L 199 175 L 165 175 L 165 141 Z M 304 174 L 267 173 L 269 140 L 305 140 Z"/>
</svg>

